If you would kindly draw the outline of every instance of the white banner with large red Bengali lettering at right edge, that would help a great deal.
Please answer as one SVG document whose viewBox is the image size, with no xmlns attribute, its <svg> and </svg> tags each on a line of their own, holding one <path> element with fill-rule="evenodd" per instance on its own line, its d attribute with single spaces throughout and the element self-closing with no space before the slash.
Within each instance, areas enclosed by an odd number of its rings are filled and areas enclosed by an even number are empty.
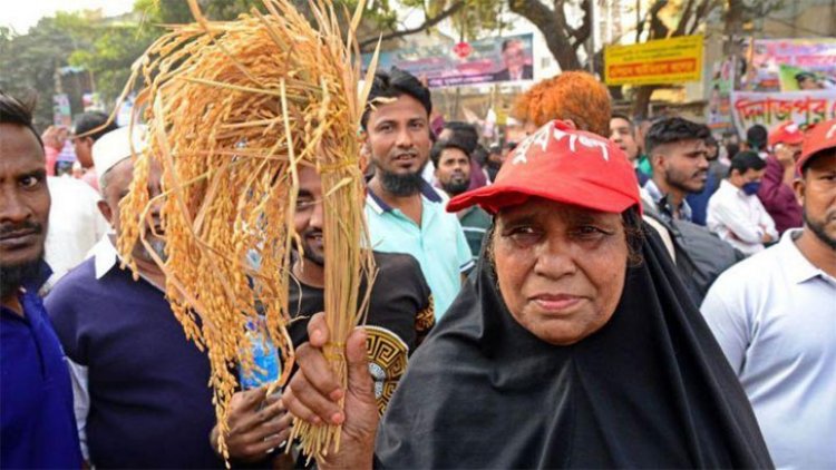
<svg viewBox="0 0 836 470">
<path fill-rule="evenodd" d="M 836 118 L 836 90 L 733 91 L 731 110 L 741 137 L 755 124 L 771 130 L 793 120 L 804 127 Z"/>
</svg>

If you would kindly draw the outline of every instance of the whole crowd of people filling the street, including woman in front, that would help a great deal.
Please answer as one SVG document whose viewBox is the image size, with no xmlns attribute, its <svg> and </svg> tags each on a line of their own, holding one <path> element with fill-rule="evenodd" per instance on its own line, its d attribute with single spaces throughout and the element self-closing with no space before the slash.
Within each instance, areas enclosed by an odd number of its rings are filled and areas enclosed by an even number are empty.
<svg viewBox="0 0 836 470">
<path fill-rule="evenodd" d="M 324 352 L 325 196 L 301 168 L 298 370 L 278 394 L 242 386 L 223 431 L 165 236 L 135 272 L 115 248 L 145 129 L 85 114 L 41 136 L 0 94 L 0 467 L 221 468 L 225 432 L 233 467 L 303 468 L 297 417 L 342 425 L 323 469 L 836 468 L 836 120 L 719 151 L 701 124 L 613 112 L 575 71 L 518 99 L 522 141 L 434 128 L 430 90 L 396 68 L 369 102 L 379 274 L 348 384 Z M 82 180 L 54 176 L 67 138 Z"/>
</svg>

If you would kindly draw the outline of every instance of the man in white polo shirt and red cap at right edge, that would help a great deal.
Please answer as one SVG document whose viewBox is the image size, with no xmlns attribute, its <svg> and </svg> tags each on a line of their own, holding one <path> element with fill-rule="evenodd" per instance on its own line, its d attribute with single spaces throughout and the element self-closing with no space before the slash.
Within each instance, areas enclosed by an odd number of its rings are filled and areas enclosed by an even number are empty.
<svg viewBox="0 0 836 470">
<path fill-rule="evenodd" d="M 836 468 L 836 119 L 804 136 L 804 227 L 732 266 L 702 314 L 749 395 L 776 468 Z"/>
</svg>

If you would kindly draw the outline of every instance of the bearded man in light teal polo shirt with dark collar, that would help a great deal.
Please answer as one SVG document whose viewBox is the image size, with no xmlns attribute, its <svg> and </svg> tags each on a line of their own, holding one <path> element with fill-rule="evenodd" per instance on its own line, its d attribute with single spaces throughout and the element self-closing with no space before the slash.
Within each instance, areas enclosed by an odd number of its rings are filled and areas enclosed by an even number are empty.
<svg viewBox="0 0 836 470">
<path fill-rule="evenodd" d="M 418 260 L 440 319 L 474 262 L 457 217 L 445 212 L 439 194 L 421 178 L 431 145 L 431 109 L 429 89 L 392 68 L 375 76 L 361 124 L 375 166 L 366 198 L 372 249 Z"/>
</svg>

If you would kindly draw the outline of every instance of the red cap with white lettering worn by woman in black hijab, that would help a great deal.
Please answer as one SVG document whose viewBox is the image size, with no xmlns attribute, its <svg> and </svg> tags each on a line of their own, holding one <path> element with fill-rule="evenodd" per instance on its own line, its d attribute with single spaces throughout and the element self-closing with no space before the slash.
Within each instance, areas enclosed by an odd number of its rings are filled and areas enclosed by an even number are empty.
<svg viewBox="0 0 836 470">
<path fill-rule="evenodd" d="M 531 197 L 607 213 L 620 214 L 634 205 L 641 210 L 639 182 L 626 154 L 609 139 L 560 120 L 523 140 L 493 185 L 454 197 L 447 210 L 478 204 L 496 214 Z"/>
</svg>

